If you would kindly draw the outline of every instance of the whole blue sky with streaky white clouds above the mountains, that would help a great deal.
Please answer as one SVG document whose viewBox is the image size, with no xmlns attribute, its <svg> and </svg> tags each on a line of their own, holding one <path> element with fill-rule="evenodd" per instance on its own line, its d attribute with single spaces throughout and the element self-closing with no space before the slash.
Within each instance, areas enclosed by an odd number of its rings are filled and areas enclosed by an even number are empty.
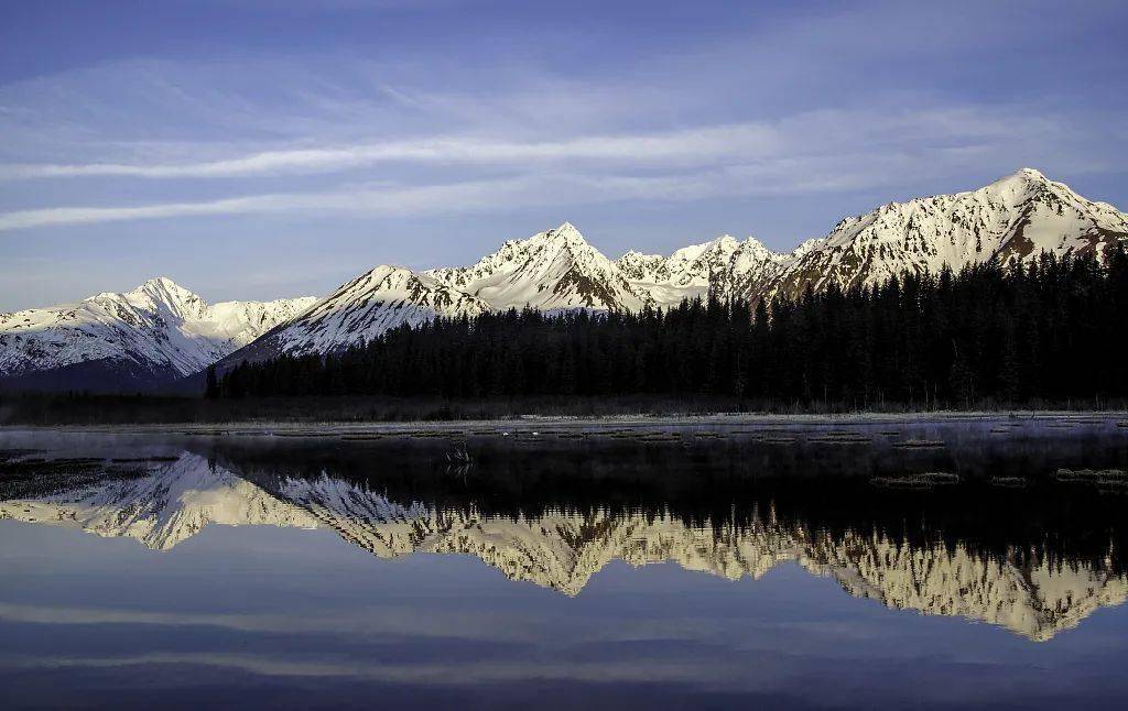
<svg viewBox="0 0 1128 711">
<path fill-rule="evenodd" d="M 1032 167 L 1128 208 L 1128 3 L 0 3 L 0 311 L 320 295 L 575 224 L 790 250 Z"/>
</svg>

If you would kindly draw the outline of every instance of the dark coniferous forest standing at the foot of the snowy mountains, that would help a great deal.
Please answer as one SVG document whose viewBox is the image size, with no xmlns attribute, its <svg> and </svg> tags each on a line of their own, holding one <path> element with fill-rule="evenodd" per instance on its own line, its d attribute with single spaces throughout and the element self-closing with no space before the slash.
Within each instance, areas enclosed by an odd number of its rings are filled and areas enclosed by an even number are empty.
<svg viewBox="0 0 1128 711">
<path fill-rule="evenodd" d="M 852 409 L 1128 396 L 1128 256 L 987 263 L 873 288 L 666 311 L 525 310 L 399 327 L 329 356 L 243 363 L 211 397 L 717 394 Z"/>
</svg>

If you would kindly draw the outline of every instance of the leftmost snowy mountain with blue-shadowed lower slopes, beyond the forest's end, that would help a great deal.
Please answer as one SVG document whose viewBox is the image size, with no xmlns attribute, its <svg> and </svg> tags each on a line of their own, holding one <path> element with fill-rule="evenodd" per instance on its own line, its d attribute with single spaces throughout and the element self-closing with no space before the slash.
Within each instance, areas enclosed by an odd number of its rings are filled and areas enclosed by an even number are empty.
<svg viewBox="0 0 1128 711">
<path fill-rule="evenodd" d="M 136 377 L 195 373 L 300 314 L 312 296 L 208 304 L 166 277 L 125 293 L 0 314 L 0 377 L 91 367 Z"/>
</svg>

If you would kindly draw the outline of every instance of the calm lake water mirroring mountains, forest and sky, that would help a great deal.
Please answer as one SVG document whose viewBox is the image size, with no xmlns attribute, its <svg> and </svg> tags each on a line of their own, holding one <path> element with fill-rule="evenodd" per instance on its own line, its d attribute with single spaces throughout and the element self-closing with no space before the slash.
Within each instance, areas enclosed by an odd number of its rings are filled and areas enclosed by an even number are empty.
<svg viewBox="0 0 1128 711">
<path fill-rule="evenodd" d="M 3 708 L 1128 701 L 1117 419 L 0 450 Z"/>
</svg>

